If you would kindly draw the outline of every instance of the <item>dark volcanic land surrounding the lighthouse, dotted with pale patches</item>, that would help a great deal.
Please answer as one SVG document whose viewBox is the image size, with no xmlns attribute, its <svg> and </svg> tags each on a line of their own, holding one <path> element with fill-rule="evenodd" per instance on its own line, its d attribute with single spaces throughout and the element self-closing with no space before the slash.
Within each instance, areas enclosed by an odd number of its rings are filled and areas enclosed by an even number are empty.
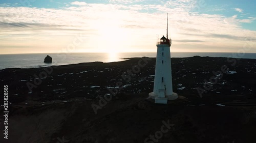
<svg viewBox="0 0 256 143">
<path fill-rule="evenodd" d="M 0 70 L 10 112 L 0 142 L 256 142 L 256 60 L 172 58 L 180 99 L 167 105 L 146 99 L 155 60 Z"/>
</svg>

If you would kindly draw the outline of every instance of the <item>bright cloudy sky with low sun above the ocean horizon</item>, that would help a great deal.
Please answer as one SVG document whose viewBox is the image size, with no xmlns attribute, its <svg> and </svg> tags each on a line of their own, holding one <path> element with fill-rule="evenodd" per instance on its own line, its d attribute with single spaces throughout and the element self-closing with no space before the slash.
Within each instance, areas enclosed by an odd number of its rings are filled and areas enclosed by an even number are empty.
<svg viewBox="0 0 256 143">
<path fill-rule="evenodd" d="M 155 52 L 256 53 L 254 0 L 0 1 L 0 54 Z"/>
</svg>

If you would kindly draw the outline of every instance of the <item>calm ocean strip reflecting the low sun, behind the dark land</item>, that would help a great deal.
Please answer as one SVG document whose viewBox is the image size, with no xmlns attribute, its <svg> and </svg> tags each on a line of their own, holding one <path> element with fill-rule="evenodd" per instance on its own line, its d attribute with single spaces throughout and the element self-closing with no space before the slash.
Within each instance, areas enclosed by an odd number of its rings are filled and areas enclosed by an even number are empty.
<svg viewBox="0 0 256 143">
<path fill-rule="evenodd" d="M 46 64 L 44 59 L 50 55 L 53 63 Z M 256 59 L 256 53 L 228 52 L 172 52 L 172 58 L 191 56 L 232 57 Z M 156 57 L 156 52 L 127 52 L 127 53 L 30 53 L 30 54 L 0 54 L 0 69 L 6 68 L 36 68 L 58 65 L 69 65 L 86 62 L 118 62 L 123 58 Z"/>
</svg>

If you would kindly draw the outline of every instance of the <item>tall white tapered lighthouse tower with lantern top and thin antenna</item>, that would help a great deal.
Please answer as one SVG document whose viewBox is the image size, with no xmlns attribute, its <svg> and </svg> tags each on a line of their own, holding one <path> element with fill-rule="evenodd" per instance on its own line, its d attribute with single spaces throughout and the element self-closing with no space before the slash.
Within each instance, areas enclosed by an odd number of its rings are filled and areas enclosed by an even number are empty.
<svg viewBox="0 0 256 143">
<path fill-rule="evenodd" d="M 170 64 L 170 45 L 172 39 L 168 39 L 168 13 L 167 35 L 157 41 L 157 58 L 154 80 L 154 91 L 150 93 L 155 103 L 167 104 L 167 100 L 175 100 L 178 95 L 173 92 L 172 67 Z"/>
</svg>

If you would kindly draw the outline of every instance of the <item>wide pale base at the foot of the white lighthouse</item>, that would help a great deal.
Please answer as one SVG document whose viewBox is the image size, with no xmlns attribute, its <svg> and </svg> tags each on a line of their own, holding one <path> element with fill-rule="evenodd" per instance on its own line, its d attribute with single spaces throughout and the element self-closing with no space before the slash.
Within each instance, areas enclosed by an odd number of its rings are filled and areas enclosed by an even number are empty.
<svg viewBox="0 0 256 143">
<path fill-rule="evenodd" d="M 151 99 L 155 100 L 155 103 L 158 103 L 158 104 L 167 104 L 168 100 L 175 100 L 178 98 L 178 94 L 174 92 L 172 95 L 166 95 L 164 98 L 159 98 L 154 94 L 154 92 L 151 92 L 148 95 L 151 97 Z"/>
</svg>

